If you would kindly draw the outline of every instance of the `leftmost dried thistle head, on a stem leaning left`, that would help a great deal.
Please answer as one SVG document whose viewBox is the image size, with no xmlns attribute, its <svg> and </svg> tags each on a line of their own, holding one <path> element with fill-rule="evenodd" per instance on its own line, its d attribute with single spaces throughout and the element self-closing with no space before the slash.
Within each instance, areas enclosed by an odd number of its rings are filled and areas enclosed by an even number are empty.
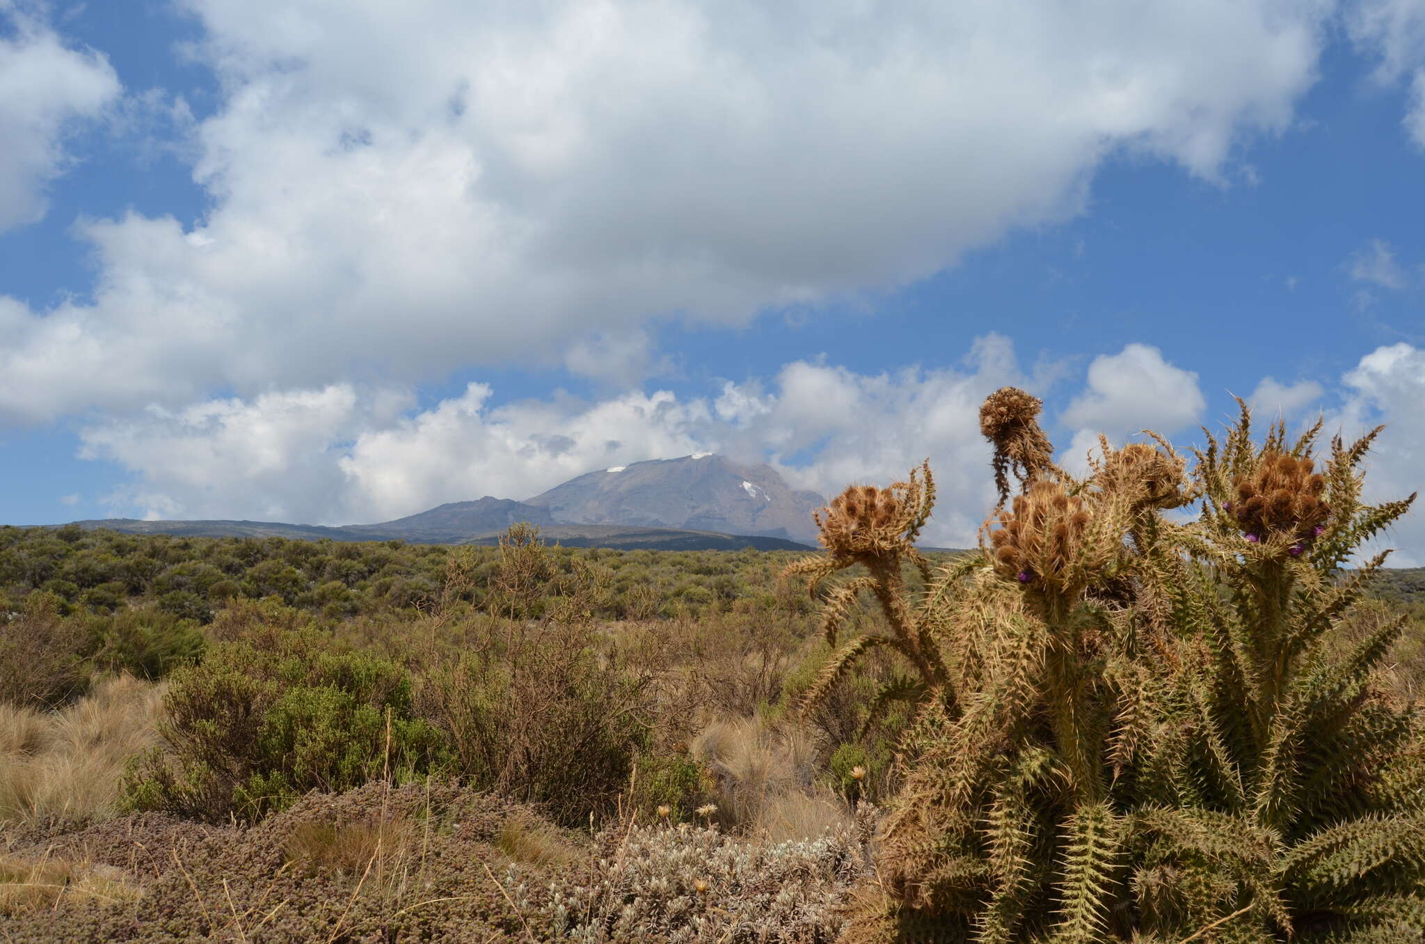
<svg viewBox="0 0 1425 944">
<path fill-rule="evenodd" d="M 929 465 L 891 488 L 852 485 L 815 512 L 818 539 L 834 558 L 884 563 L 913 553 L 915 539 L 931 515 L 935 485 Z"/>
</svg>

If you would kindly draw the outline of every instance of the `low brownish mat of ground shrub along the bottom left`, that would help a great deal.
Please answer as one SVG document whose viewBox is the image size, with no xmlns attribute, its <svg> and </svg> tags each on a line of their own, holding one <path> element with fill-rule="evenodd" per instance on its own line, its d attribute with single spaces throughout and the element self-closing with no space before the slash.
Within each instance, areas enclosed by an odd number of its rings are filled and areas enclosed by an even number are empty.
<svg viewBox="0 0 1425 944">
<path fill-rule="evenodd" d="M 30 831 L 10 856 L 83 857 L 123 870 L 142 894 L 28 911 L 0 925 L 0 940 L 549 940 L 539 905 L 561 867 L 536 871 L 497 850 L 512 817 L 533 821 L 524 807 L 453 783 L 372 783 L 339 796 L 309 794 L 251 828 L 138 814 L 77 833 Z M 342 828 L 351 824 L 361 828 Z M 294 848 L 315 858 L 292 863 Z M 500 887 L 522 881 L 533 888 L 523 913 Z"/>
</svg>

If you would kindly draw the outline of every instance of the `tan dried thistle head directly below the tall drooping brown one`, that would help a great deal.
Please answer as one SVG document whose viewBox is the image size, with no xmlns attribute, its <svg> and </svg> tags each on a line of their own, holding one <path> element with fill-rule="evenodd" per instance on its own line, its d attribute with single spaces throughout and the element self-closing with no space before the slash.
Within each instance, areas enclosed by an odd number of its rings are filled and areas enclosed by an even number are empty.
<svg viewBox="0 0 1425 944">
<path fill-rule="evenodd" d="M 1083 498 L 1069 495 L 1059 482 L 1035 482 L 1015 496 L 1010 511 L 995 515 L 990 562 L 998 573 L 1029 589 L 1072 593 L 1087 572 L 1083 558 L 1092 519 Z"/>
</svg>

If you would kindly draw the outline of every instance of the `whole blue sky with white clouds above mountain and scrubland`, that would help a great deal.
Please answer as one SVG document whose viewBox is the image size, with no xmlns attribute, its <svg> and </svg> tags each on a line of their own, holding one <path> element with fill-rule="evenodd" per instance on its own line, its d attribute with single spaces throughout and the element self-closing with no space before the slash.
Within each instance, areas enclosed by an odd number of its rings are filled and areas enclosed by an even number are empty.
<svg viewBox="0 0 1425 944">
<path fill-rule="evenodd" d="M 379 520 L 975 408 L 1425 468 L 1425 3 L 0 0 L 0 522 Z M 1006 19 L 1007 17 L 1007 19 Z M 1394 536 L 1425 563 L 1425 528 Z"/>
</svg>

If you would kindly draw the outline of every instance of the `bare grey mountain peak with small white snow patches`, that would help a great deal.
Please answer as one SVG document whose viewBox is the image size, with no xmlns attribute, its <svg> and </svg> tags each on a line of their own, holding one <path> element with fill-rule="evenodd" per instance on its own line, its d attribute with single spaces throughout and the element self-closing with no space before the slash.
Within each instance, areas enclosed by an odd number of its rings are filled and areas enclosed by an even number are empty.
<svg viewBox="0 0 1425 944">
<path fill-rule="evenodd" d="M 687 528 L 814 543 L 815 492 L 792 491 L 770 465 L 711 452 L 589 472 L 526 499 L 570 525 Z"/>
</svg>

